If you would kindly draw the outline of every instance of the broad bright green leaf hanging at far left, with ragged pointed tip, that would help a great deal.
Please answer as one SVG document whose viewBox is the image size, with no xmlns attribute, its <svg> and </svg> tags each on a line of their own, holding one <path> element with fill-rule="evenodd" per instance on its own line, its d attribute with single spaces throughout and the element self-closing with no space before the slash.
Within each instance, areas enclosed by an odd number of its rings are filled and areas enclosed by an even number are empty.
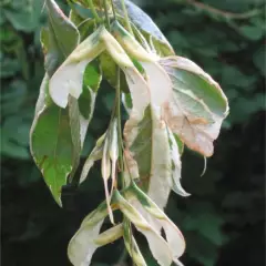
<svg viewBox="0 0 266 266">
<path fill-rule="evenodd" d="M 68 110 L 54 104 L 45 108 L 35 116 L 32 125 L 31 153 L 60 205 L 61 187 L 73 170 L 73 152 Z"/>
</svg>

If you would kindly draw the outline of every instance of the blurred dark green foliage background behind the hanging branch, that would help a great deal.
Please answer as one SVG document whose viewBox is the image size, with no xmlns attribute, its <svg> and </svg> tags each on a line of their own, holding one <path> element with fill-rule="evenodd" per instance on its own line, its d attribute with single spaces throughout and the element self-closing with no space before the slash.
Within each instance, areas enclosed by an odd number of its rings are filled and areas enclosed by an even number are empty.
<svg viewBox="0 0 266 266">
<path fill-rule="evenodd" d="M 68 12 L 66 1 L 58 1 Z M 264 0 L 164 0 L 140 4 L 180 55 L 217 80 L 231 114 L 204 161 L 183 157 L 183 186 L 166 213 L 178 225 L 187 266 L 265 265 L 265 3 Z M 0 3 L 1 75 L 1 259 L 3 266 L 64 266 L 66 245 L 84 215 L 104 198 L 99 165 L 79 188 L 76 211 L 52 200 L 29 153 L 29 130 L 43 76 L 39 42 L 45 23 L 42 0 Z M 113 90 L 100 90 L 85 142 L 86 155 L 110 119 Z M 149 266 L 155 266 L 140 238 Z M 94 266 L 132 265 L 122 241 L 99 249 Z"/>
</svg>

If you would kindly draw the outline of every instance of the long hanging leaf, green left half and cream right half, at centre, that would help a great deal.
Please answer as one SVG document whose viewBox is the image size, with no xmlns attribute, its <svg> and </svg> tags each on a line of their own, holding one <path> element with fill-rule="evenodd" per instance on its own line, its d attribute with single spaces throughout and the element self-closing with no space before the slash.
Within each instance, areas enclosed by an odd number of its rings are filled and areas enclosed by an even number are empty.
<svg viewBox="0 0 266 266">
<path fill-rule="evenodd" d="M 172 186 L 171 154 L 166 125 L 152 112 L 154 110 L 149 105 L 140 122 L 129 120 L 124 136 L 136 162 L 139 185 L 163 208 Z M 130 166 L 130 173 L 134 173 L 133 167 Z"/>
</svg>

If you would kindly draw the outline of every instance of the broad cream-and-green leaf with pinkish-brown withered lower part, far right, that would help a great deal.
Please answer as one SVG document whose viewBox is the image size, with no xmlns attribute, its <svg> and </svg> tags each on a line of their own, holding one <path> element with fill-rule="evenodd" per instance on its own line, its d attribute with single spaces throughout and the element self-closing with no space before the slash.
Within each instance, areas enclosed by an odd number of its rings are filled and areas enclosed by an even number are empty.
<svg viewBox="0 0 266 266">
<path fill-rule="evenodd" d="M 173 83 L 173 96 L 164 109 L 168 127 L 190 149 L 211 156 L 213 141 L 228 113 L 226 96 L 219 85 L 192 61 L 173 57 L 161 63 Z"/>
</svg>

